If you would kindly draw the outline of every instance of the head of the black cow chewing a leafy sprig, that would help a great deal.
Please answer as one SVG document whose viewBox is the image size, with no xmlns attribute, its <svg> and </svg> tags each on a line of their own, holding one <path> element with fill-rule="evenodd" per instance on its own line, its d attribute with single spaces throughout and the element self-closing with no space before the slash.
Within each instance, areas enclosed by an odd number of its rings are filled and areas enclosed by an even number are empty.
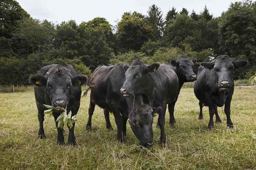
<svg viewBox="0 0 256 170">
<path fill-rule="evenodd" d="M 49 97 L 47 100 L 52 106 L 65 108 L 70 99 L 74 98 L 74 89 L 87 82 L 87 76 L 72 77 L 67 68 L 57 67 L 47 72 L 45 77 L 34 74 L 29 77 L 29 80 L 32 84 L 45 88 L 46 96 Z"/>
</svg>

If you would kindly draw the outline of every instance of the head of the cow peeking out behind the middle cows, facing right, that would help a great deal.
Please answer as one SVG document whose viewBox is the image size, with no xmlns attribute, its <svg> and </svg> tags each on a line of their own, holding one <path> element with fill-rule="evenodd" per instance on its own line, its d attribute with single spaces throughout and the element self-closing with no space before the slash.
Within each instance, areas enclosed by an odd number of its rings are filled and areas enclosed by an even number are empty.
<svg viewBox="0 0 256 170">
<path fill-rule="evenodd" d="M 177 60 L 172 60 L 171 64 L 177 67 L 177 76 L 183 82 L 193 82 L 196 80 L 196 74 L 193 71 L 195 59 L 190 60 L 185 55 L 182 55 Z"/>
</svg>

